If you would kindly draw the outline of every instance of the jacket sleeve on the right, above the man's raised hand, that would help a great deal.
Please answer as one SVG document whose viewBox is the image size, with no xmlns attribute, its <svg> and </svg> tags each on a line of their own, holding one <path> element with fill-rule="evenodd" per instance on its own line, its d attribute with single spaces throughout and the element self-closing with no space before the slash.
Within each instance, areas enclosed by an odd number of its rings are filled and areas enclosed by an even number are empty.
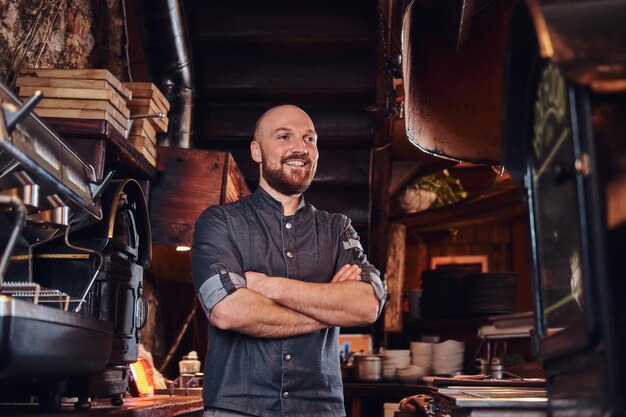
<svg viewBox="0 0 626 417">
<path fill-rule="evenodd" d="M 380 271 L 367 259 L 363 247 L 361 246 L 359 235 L 352 227 L 350 219 L 344 217 L 341 227 L 339 259 L 336 265 L 336 271 L 346 264 L 357 264 L 361 268 L 361 281 L 370 283 L 374 288 L 374 293 L 378 298 L 378 315 L 380 316 L 387 297 L 386 285 L 380 278 Z"/>
</svg>

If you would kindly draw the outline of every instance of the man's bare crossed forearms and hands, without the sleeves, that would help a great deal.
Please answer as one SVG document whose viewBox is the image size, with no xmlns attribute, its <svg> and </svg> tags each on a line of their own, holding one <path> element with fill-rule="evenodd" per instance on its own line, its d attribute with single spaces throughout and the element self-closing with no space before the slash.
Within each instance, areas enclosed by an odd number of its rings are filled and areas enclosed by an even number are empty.
<svg viewBox="0 0 626 417">
<path fill-rule="evenodd" d="M 265 338 L 371 323 L 379 300 L 360 273 L 357 265 L 344 265 L 330 283 L 319 284 L 247 272 L 247 288 L 217 303 L 210 321 L 223 330 Z"/>
</svg>

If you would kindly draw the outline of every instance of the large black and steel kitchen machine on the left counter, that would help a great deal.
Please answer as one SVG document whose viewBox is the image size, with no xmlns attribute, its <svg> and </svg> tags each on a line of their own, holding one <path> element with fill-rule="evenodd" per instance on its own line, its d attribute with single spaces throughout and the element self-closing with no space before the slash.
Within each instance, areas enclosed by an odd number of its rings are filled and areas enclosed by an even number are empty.
<svg viewBox="0 0 626 417">
<path fill-rule="evenodd" d="M 0 83 L 0 401 L 122 403 L 147 319 L 146 201 L 94 169 Z"/>
</svg>

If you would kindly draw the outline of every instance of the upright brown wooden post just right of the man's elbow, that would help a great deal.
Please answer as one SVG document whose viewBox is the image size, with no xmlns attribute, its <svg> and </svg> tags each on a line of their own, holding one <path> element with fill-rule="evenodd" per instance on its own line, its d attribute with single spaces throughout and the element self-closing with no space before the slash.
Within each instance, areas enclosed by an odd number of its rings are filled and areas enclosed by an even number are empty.
<svg viewBox="0 0 626 417">
<path fill-rule="evenodd" d="M 389 225 L 389 247 L 385 279 L 387 301 L 385 302 L 385 331 L 402 332 L 402 304 L 404 290 L 404 260 L 406 254 L 406 226 Z"/>
</svg>

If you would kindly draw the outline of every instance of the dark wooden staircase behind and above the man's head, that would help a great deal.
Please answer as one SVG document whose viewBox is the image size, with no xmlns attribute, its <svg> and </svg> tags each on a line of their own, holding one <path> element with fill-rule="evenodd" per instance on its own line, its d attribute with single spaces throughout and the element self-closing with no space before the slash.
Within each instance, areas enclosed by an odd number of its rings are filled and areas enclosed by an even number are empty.
<svg viewBox="0 0 626 417">
<path fill-rule="evenodd" d="M 228 150 L 252 189 L 249 143 L 258 116 L 278 104 L 307 111 L 319 135 L 318 209 L 352 218 L 367 237 L 376 87 L 374 0 L 184 2 L 196 98 L 193 146 Z"/>
</svg>

